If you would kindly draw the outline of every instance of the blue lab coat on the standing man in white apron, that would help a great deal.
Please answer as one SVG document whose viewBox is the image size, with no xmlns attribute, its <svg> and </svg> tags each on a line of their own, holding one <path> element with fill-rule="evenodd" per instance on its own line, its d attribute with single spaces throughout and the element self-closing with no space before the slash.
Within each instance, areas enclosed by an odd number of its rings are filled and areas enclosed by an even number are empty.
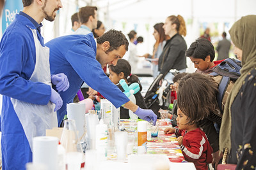
<svg viewBox="0 0 256 170">
<path fill-rule="evenodd" d="M 25 164 L 32 161 L 28 139 L 10 97 L 33 104 L 47 104 L 51 97 L 49 85 L 29 80 L 36 62 L 35 42 L 30 28 L 36 29 L 28 18 L 17 14 L 0 43 L 3 169 L 25 169 Z M 37 36 L 44 46 L 44 39 L 38 31 Z"/>
</svg>

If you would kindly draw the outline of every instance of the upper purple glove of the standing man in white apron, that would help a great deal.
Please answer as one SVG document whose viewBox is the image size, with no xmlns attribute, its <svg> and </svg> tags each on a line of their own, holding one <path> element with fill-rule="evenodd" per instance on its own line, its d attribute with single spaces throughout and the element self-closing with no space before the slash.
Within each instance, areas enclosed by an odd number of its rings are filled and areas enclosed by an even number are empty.
<svg viewBox="0 0 256 170">
<path fill-rule="evenodd" d="M 51 76 L 51 81 L 52 84 L 56 85 L 58 92 L 65 92 L 69 87 L 68 77 L 63 73 L 53 74 Z"/>
</svg>

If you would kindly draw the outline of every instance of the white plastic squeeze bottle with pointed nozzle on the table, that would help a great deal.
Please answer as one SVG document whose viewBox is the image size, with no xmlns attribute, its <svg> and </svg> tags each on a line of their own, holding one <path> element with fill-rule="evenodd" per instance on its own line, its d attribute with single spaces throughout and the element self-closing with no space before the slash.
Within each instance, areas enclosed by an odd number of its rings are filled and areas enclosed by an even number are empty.
<svg viewBox="0 0 256 170">
<path fill-rule="evenodd" d="M 95 148 L 97 150 L 97 157 L 99 161 L 107 160 L 108 155 L 108 126 L 104 124 L 103 120 L 101 119 L 99 124 L 96 125 L 95 130 Z"/>
</svg>

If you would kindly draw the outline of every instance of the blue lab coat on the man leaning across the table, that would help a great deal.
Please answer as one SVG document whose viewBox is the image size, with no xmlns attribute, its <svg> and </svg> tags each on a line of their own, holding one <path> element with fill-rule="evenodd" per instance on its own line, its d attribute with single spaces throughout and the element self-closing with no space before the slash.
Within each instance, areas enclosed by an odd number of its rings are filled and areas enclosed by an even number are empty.
<svg viewBox="0 0 256 170">
<path fill-rule="evenodd" d="M 83 82 L 106 97 L 116 108 L 129 101 L 104 73 L 96 60 L 96 42 L 93 34 L 69 35 L 52 39 L 45 44 L 50 48 L 51 74 L 64 73 L 70 87 L 59 92 L 63 106 L 57 111 L 58 124 L 67 114 L 67 103 L 72 103 Z"/>
</svg>

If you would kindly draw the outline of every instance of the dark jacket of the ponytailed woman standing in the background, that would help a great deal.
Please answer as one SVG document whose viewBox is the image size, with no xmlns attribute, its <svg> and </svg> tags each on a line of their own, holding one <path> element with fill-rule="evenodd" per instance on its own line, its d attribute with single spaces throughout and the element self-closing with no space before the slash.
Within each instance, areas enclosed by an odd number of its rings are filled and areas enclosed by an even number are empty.
<svg viewBox="0 0 256 170">
<path fill-rule="evenodd" d="M 185 69 L 187 50 L 186 41 L 180 34 L 175 34 L 171 39 L 166 41 L 163 52 L 161 53 L 158 61 L 158 71 L 164 74 L 164 76 L 170 71 L 170 69 Z"/>
</svg>

